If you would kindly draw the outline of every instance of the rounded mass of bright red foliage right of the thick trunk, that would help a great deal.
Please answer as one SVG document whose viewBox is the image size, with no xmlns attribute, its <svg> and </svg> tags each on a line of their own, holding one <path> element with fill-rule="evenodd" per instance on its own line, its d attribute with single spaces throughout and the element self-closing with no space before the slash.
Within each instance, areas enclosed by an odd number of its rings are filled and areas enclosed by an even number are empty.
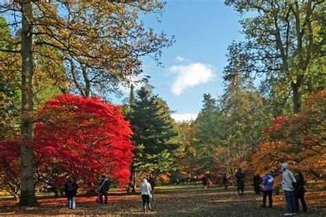
<svg viewBox="0 0 326 217">
<path fill-rule="evenodd" d="M 100 174 L 127 183 L 134 146 L 120 106 L 98 98 L 59 95 L 47 101 L 36 117 L 34 150 L 39 166 L 60 168 L 90 183 Z"/>
</svg>

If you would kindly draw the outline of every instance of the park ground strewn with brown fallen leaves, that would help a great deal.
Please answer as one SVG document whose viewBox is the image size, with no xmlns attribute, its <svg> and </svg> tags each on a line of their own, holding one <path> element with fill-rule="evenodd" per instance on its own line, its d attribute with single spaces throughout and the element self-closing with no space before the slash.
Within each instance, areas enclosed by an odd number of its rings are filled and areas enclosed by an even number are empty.
<svg viewBox="0 0 326 217">
<path fill-rule="evenodd" d="M 274 208 L 261 208 L 262 196 L 254 196 L 247 187 L 243 196 L 235 188 L 203 189 L 201 185 L 165 186 L 155 189 L 152 212 L 146 216 L 283 216 L 283 194 L 274 196 Z M 45 196 L 39 198 L 39 207 L 17 207 L 14 201 L 0 201 L 0 216 L 143 216 L 139 194 L 110 192 L 109 205 L 96 203 L 96 195 L 76 197 L 77 208 L 65 207 L 66 199 Z M 296 216 L 326 216 L 326 192 L 309 191 L 306 194 L 308 213 Z"/>
</svg>

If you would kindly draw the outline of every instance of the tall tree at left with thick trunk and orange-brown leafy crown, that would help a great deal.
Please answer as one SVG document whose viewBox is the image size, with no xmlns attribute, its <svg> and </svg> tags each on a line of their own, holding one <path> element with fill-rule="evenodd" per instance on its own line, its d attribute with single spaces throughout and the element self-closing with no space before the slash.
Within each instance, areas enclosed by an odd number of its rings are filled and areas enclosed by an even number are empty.
<svg viewBox="0 0 326 217">
<path fill-rule="evenodd" d="M 66 78 L 72 78 L 80 93 L 89 95 L 91 82 L 106 91 L 107 82 L 129 82 L 142 72 L 140 56 L 153 54 L 158 61 L 162 47 L 171 45 L 172 41 L 166 39 L 165 34 L 144 30 L 138 19 L 140 12 L 160 12 L 162 8 L 160 2 L 143 0 L 84 3 L 21 0 L 0 4 L 1 15 L 8 14 L 12 21 L 6 26 L 21 34 L 21 40 L 14 41 L 12 49 L 0 48 L 1 52 L 20 54 L 15 56 L 17 62 L 21 62 L 20 205 L 36 205 L 35 161 L 33 149 L 28 146 L 33 141 L 34 126 L 26 114 L 34 109 L 33 78 L 38 56 L 58 67 L 61 60 L 66 60 L 71 72 Z M 58 55 L 51 55 L 53 49 Z M 78 72 L 74 69 L 80 69 L 85 87 L 80 84 L 80 78 L 74 78 Z M 48 76 L 56 78 L 55 75 L 54 70 Z"/>
</svg>

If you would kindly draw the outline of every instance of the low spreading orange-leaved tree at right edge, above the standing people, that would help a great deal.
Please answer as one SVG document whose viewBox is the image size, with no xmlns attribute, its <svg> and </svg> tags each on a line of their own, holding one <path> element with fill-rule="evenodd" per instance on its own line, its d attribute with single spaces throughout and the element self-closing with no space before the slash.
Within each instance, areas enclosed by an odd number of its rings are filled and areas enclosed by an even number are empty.
<svg viewBox="0 0 326 217">
<path fill-rule="evenodd" d="M 252 156 L 254 170 L 277 169 L 284 161 L 305 172 L 307 179 L 325 181 L 326 92 L 309 94 L 303 111 L 272 119 L 266 139 Z"/>
</svg>

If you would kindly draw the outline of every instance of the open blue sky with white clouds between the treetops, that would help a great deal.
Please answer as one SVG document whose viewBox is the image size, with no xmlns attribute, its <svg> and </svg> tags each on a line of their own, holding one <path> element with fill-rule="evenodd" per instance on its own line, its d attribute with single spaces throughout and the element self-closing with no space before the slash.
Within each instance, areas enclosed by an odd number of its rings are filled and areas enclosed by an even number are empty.
<svg viewBox="0 0 326 217">
<path fill-rule="evenodd" d="M 161 22 L 153 15 L 143 18 L 155 32 L 175 36 L 176 42 L 162 50 L 164 67 L 157 67 L 149 57 L 142 60 L 154 93 L 167 102 L 177 121 L 195 119 L 204 93 L 213 98 L 223 93 L 227 47 L 244 37 L 240 19 L 223 0 L 167 0 Z M 124 93 L 127 97 L 128 91 Z"/>
</svg>

